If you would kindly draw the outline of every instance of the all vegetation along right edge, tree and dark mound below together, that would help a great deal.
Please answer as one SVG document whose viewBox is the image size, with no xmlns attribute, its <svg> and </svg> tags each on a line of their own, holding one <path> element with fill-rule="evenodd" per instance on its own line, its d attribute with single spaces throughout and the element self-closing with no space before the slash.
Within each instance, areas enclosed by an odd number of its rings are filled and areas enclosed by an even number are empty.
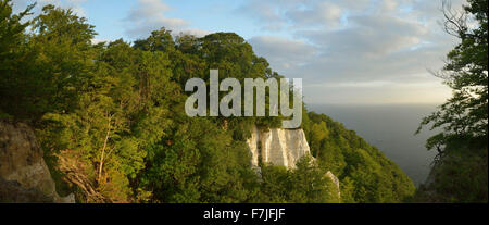
<svg viewBox="0 0 489 225">
<path fill-rule="evenodd" d="M 431 125 L 442 132 L 426 143 L 438 155 L 417 201 L 488 201 L 488 1 L 467 3 L 462 12 L 444 3 L 446 30 L 460 43 L 437 76 L 453 96 L 419 127 Z"/>
</svg>

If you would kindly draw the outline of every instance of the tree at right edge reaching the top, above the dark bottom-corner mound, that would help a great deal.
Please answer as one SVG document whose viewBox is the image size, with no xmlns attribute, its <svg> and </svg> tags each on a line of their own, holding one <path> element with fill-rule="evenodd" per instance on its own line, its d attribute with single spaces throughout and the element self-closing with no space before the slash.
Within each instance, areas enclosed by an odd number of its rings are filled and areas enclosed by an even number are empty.
<svg viewBox="0 0 489 225">
<path fill-rule="evenodd" d="M 488 136 L 488 1 L 467 2 L 462 12 L 443 2 L 444 29 L 461 42 L 447 55 L 447 64 L 436 76 L 444 79 L 453 96 L 425 117 L 417 130 L 428 124 L 430 129 L 443 129 L 427 141 L 427 148 L 436 148 L 440 155 L 455 136 L 485 140 Z M 471 22 L 476 27 L 471 27 Z"/>
</svg>

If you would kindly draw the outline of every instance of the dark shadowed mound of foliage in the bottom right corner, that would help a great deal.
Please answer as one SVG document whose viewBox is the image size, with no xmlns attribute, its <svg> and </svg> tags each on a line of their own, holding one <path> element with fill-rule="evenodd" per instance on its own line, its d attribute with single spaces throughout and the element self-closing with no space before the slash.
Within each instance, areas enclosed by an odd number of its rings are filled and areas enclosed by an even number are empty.
<svg viewBox="0 0 489 225">
<path fill-rule="evenodd" d="M 487 202 L 487 142 L 465 138 L 450 140 L 446 154 L 434 165 L 413 201 Z"/>
</svg>

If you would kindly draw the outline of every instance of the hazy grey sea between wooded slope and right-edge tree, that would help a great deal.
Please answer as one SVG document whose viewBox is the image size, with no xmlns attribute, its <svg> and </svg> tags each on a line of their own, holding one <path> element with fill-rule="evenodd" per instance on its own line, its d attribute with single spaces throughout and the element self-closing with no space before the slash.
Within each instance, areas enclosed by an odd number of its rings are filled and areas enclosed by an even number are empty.
<svg viewBox="0 0 489 225">
<path fill-rule="evenodd" d="M 436 104 L 308 104 L 309 110 L 324 113 L 353 129 L 367 142 L 394 161 L 418 186 L 430 170 L 435 151 L 425 142 L 435 132 L 424 129 L 414 136 L 422 118 Z"/>
</svg>

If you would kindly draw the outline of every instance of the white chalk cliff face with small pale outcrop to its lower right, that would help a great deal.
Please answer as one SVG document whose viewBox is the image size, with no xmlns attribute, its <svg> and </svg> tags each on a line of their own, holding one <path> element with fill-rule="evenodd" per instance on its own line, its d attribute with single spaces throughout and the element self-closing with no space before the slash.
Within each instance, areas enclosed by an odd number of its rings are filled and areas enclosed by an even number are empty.
<svg viewBox="0 0 489 225">
<path fill-rule="evenodd" d="M 294 168 L 299 159 L 311 154 L 302 129 L 271 128 L 263 132 L 254 126 L 247 143 L 251 151 L 251 165 L 253 167 L 259 167 L 260 162 L 263 162 Z M 329 171 L 326 176 L 337 186 L 338 196 L 340 196 L 338 178 Z"/>
</svg>

